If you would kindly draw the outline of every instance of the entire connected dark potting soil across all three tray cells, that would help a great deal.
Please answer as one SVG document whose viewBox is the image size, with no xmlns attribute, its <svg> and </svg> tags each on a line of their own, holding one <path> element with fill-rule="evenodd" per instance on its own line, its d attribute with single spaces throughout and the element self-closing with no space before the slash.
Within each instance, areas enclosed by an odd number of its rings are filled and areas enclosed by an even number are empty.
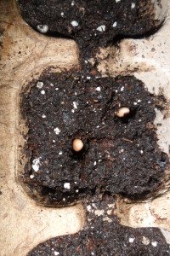
<svg viewBox="0 0 170 256">
<path fill-rule="evenodd" d="M 35 247 L 39 255 L 169 255 L 158 229 L 123 227 L 114 215 L 114 194 L 143 199 L 161 184 L 167 154 L 157 145 L 155 108 L 164 98 L 151 95 L 134 77 L 97 78 L 89 72 L 99 47 L 156 31 L 153 4 L 146 0 L 19 0 L 21 15 L 49 36 L 73 38 L 82 73 L 42 73 L 21 95 L 29 128 L 23 174 L 32 197 L 45 205 L 82 200 L 87 224 L 76 235 L 59 236 Z M 95 61 L 94 61 L 95 62 Z M 129 113 L 116 115 L 126 107 Z M 81 139 L 84 147 L 74 151 Z"/>
</svg>

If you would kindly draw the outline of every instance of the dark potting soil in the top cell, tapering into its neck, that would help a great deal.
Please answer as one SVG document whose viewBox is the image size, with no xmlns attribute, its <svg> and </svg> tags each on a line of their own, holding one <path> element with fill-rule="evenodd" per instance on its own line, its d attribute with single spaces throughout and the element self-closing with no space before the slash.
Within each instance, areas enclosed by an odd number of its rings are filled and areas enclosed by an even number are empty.
<svg viewBox="0 0 170 256">
<path fill-rule="evenodd" d="M 38 32 L 77 41 L 82 62 L 96 49 L 122 38 L 156 32 L 154 4 L 150 0 L 18 0 L 20 12 Z"/>
</svg>

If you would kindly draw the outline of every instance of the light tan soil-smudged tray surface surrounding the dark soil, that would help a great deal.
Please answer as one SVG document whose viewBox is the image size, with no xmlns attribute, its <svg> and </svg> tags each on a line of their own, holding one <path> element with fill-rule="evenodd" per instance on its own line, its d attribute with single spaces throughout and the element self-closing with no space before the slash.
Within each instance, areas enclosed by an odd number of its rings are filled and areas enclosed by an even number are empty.
<svg viewBox="0 0 170 256">
<path fill-rule="evenodd" d="M 155 1 L 156 2 L 156 1 Z M 170 6 L 162 1 L 157 15 L 166 17 L 159 32 L 147 39 L 122 40 L 120 49 L 103 50 L 111 57 L 100 61 L 99 70 L 111 76 L 134 74 L 142 79 L 150 91 L 163 90 L 170 99 Z M 168 8 L 167 8 L 168 7 Z M 33 31 L 21 18 L 14 0 L 0 1 L 2 28 L 0 73 L 0 255 L 22 256 L 38 243 L 54 236 L 76 233 L 85 222 L 79 203 L 75 207 L 49 208 L 37 206 L 26 195 L 19 182 L 20 137 L 19 94 L 22 86 L 42 70 L 54 66 L 57 71 L 78 68 L 77 44 L 71 40 L 48 38 Z M 152 49 L 155 49 L 154 51 Z M 19 53 L 20 52 L 20 53 Z M 135 72 L 137 70 L 137 72 Z M 167 106 L 168 107 L 168 106 Z M 168 113 L 168 108 L 167 108 Z M 158 128 L 159 144 L 169 154 L 170 119 L 157 112 L 162 126 Z M 167 173 L 168 174 L 168 173 Z M 170 193 L 168 182 L 154 201 L 130 203 L 117 197 L 116 214 L 121 223 L 133 227 L 160 227 L 170 231 Z M 167 241 L 168 231 L 162 230 Z"/>
</svg>

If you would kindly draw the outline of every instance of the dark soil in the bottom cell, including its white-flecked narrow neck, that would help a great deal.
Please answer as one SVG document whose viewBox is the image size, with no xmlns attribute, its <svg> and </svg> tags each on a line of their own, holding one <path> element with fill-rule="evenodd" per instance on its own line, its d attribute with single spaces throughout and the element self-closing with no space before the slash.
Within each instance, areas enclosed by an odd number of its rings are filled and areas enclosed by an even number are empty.
<svg viewBox="0 0 170 256">
<path fill-rule="evenodd" d="M 86 204 L 87 224 L 75 235 L 59 236 L 35 247 L 28 256 L 168 256 L 161 230 L 132 229 L 118 223 L 114 199 L 105 195 Z"/>
</svg>

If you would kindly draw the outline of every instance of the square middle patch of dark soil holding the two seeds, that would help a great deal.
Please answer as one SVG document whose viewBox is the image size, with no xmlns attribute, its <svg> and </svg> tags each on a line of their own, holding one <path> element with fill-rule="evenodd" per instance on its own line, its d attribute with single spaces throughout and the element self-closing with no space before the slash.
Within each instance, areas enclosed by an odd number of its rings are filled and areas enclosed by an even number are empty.
<svg viewBox="0 0 170 256">
<path fill-rule="evenodd" d="M 65 205 L 105 191 L 142 199 L 159 187 L 168 158 L 153 122 L 162 102 L 141 81 L 46 72 L 27 87 L 20 108 L 31 195 Z M 124 118 L 116 116 L 122 107 L 130 110 Z M 78 153 L 76 138 L 84 144 Z"/>
</svg>

